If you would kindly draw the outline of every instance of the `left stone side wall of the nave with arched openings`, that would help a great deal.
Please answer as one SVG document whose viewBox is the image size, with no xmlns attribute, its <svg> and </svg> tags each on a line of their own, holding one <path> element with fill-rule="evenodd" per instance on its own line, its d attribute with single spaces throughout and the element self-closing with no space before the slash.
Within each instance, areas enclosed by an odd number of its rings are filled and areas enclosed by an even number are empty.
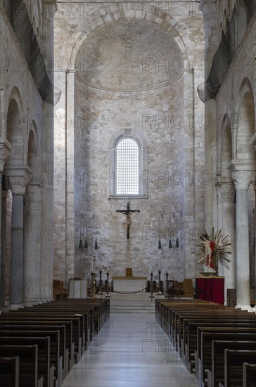
<svg viewBox="0 0 256 387">
<path fill-rule="evenodd" d="M 7 4 L 7 2 L 6 2 Z M 53 45 L 53 35 L 50 33 L 46 20 L 53 20 L 47 13 L 42 13 L 41 1 L 37 1 L 40 11 L 28 6 L 30 20 L 34 22 L 38 34 L 38 42 L 43 46 Z M 54 8 L 54 1 L 51 2 Z M 39 195 L 37 214 L 34 214 L 34 227 L 31 229 L 24 218 L 23 242 L 25 250 L 19 252 L 18 271 L 21 275 L 16 283 L 12 274 L 6 273 L 7 294 L 10 287 L 18 289 L 21 300 L 51 300 L 52 265 L 53 265 L 53 201 L 49 192 L 53 190 L 53 182 L 49 176 L 53 173 L 53 152 L 51 149 L 51 134 L 53 134 L 53 112 L 48 103 L 42 101 L 41 95 L 28 68 L 23 53 L 22 44 L 18 42 L 8 15 L 4 11 L 3 2 L 0 5 L 1 24 L 1 68 L 0 68 L 0 131 L 1 131 L 1 166 L 8 176 L 9 188 L 15 194 L 25 194 L 27 208 L 30 208 L 27 196 L 27 184 L 37 186 Z M 44 36 L 41 31 L 41 20 L 44 20 Z M 49 51 L 50 56 L 50 51 Z M 51 53 L 53 56 L 53 53 Z M 49 142 L 51 144 L 49 145 Z M 20 191 L 18 191 L 20 186 Z M 24 212 L 25 214 L 25 212 Z M 11 208 L 8 208 L 8 222 L 11 221 Z M 8 224 L 8 227 L 10 224 Z M 2 232 L 7 232 L 3 229 Z M 9 270 L 11 254 L 10 235 L 6 238 L 6 269 Z M 34 247 L 36 246 L 35 250 Z M 33 249 L 33 253 L 32 250 Z M 24 259 L 23 259 L 24 257 Z M 12 256 L 12 259 L 13 256 Z M 27 260 L 27 262 L 25 262 Z M 25 266 L 23 273 L 23 265 Z M 24 274 L 24 281 L 23 281 Z M 36 291 L 34 289 L 37 288 Z M 28 305 L 28 304 L 27 304 Z"/>
</svg>

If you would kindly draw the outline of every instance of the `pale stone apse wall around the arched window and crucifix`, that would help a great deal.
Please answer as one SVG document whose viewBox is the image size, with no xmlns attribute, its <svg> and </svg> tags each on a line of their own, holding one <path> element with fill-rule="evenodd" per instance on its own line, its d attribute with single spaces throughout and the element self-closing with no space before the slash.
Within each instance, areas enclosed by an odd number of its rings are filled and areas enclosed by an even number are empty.
<svg viewBox="0 0 256 387">
<path fill-rule="evenodd" d="M 196 92 L 204 73 L 203 18 L 194 1 L 181 3 L 165 10 L 145 2 L 95 3 L 87 13 L 75 1 L 69 8 L 58 4 L 56 86 L 63 94 L 56 106 L 55 170 L 58 175 L 66 165 L 70 173 L 68 192 L 57 180 L 55 189 L 56 225 L 70 231 L 67 241 L 56 241 L 59 279 L 87 277 L 94 255 L 96 267 L 102 263 L 105 270 L 109 262 L 112 275 L 125 267 L 147 275 L 151 260 L 156 274 L 159 255 L 164 271 L 167 257 L 171 277 L 196 274 L 203 228 L 204 113 Z M 110 144 L 124 129 L 146 141 L 147 198 L 110 198 Z M 125 216 L 116 212 L 128 202 L 141 210 L 132 215 L 129 241 Z M 81 227 L 88 251 L 78 248 Z M 169 249 L 170 235 L 179 248 Z"/>
</svg>

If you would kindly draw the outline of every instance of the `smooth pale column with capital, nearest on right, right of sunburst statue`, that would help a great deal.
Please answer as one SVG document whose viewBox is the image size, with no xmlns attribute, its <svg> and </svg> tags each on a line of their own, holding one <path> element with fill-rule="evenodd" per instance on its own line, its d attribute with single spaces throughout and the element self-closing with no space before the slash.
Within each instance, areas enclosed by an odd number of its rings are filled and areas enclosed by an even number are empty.
<svg viewBox="0 0 256 387">
<path fill-rule="evenodd" d="M 236 187 L 236 307 L 252 311 L 250 306 L 250 257 L 248 222 L 248 186 L 254 168 L 232 164 L 231 177 Z"/>
</svg>

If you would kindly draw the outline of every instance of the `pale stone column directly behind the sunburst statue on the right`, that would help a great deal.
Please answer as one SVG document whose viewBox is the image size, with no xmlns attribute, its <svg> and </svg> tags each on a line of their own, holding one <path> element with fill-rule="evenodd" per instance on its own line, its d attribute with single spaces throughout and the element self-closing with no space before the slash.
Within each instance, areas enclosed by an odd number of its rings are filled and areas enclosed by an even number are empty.
<svg viewBox="0 0 256 387">
<path fill-rule="evenodd" d="M 219 191 L 219 213 L 222 219 L 219 220 L 218 228 L 222 229 L 222 236 L 229 235 L 232 243 L 229 259 L 231 262 L 219 261 L 219 275 L 225 277 L 224 299 L 226 305 L 226 290 L 236 287 L 236 205 L 233 201 L 235 186 L 233 182 L 225 181 L 219 177 L 215 182 Z"/>
</svg>

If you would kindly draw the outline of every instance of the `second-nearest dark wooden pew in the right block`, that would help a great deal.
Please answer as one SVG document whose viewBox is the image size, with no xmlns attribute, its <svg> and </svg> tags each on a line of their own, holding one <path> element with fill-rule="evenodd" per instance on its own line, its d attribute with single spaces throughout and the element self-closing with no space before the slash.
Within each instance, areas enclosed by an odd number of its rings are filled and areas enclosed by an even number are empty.
<svg viewBox="0 0 256 387">
<path fill-rule="evenodd" d="M 256 350 L 224 350 L 224 387 L 243 385 L 243 363 L 255 362 Z M 220 383 L 219 383 L 220 384 Z"/>
</svg>

